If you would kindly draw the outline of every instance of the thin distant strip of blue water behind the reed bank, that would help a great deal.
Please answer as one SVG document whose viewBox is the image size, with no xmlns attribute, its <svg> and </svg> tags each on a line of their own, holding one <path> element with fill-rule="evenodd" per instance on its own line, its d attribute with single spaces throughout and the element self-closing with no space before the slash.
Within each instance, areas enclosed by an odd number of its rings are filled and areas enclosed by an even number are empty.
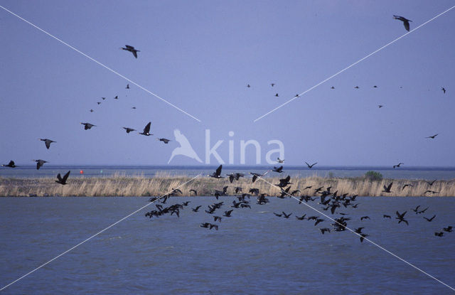
<svg viewBox="0 0 455 295">
<path fill-rule="evenodd" d="M 276 166 L 281 166 L 276 165 Z M 196 176 L 198 174 L 207 175 L 213 173 L 217 166 L 53 166 L 45 163 L 40 170 L 36 166 L 20 166 L 17 168 L 0 167 L 0 177 L 14 178 L 39 178 L 55 177 L 57 173 L 65 173 L 71 170 L 73 177 L 94 177 L 112 176 L 120 174 L 125 176 L 145 176 L 153 177 L 156 173 L 168 173 L 170 175 Z M 223 175 L 240 172 L 249 175 L 250 172 L 262 173 L 272 168 L 270 166 L 223 166 Z M 306 168 L 303 166 L 286 166 L 285 173 L 291 177 L 301 176 L 332 176 L 332 177 L 360 177 L 367 171 L 378 171 L 384 178 L 394 179 L 425 179 L 432 181 L 455 179 L 455 167 L 408 167 L 402 166 L 393 169 L 391 166 L 314 166 Z M 83 171 L 83 174 L 80 173 Z M 269 173 L 266 177 L 276 176 L 276 173 Z"/>
</svg>

